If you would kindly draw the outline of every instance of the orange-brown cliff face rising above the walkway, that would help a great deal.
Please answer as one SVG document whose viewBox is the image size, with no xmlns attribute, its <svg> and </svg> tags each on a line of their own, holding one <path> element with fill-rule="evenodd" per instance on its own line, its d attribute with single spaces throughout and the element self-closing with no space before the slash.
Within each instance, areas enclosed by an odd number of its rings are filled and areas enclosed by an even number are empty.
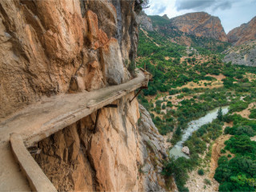
<svg viewBox="0 0 256 192">
<path fill-rule="evenodd" d="M 130 78 L 138 33 L 134 1 L 0 2 L 0 118 L 67 91 Z"/>
</svg>

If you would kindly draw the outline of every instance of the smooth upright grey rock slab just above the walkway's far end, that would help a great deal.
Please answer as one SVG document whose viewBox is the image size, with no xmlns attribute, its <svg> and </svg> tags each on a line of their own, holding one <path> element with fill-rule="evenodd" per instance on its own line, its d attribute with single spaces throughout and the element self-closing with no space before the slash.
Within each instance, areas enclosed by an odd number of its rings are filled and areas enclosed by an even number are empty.
<svg viewBox="0 0 256 192">
<path fill-rule="evenodd" d="M 121 84 L 124 79 L 124 69 L 120 46 L 116 38 L 110 38 L 110 41 L 105 46 L 102 46 L 101 57 L 106 82 L 110 85 Z"/>
</svg>

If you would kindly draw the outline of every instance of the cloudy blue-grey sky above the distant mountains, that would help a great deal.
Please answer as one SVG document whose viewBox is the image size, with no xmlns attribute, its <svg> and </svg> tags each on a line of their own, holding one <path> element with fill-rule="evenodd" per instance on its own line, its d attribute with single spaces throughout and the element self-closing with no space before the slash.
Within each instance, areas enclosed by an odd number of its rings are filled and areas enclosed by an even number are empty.
<svg viewBox="0 0 256 192">
<path fill-rule="evenodd" d="M 182 14 L 204 11 L 221 19 L 226 34 L 256 16 L 256 0 L 150 0 L 148 15 L 174 18 Z"/>
</svg>

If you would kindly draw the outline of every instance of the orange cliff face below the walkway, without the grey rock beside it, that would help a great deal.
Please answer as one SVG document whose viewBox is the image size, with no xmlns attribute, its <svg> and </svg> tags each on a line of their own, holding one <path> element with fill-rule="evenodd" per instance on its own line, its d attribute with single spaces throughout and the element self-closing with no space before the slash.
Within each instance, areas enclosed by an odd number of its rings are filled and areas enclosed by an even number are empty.
<svg viewBox="0 0 256 192">
<path fill-rule="evenodd" d="M 38 143 L 36 161 L 58 190 L 139 190 L 138 102 L 126 96 Z"/>
</svg>

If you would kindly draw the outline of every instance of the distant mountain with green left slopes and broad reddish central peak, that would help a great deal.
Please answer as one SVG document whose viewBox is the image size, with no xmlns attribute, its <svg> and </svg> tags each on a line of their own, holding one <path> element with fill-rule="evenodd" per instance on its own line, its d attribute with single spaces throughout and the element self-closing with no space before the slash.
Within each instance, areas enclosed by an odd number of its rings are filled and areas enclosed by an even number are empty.
<svg viewBox="0 0 256 192">
<path fill-rule="evenodd" d="M 191 17 L 187 18 L 189 16 Z M 226 50 L 227 46 L 230 46 L 219 19 L 203 12 L 171 19 L 166 15 L 147 16 L 142 13 L 136 20 L 141 31 L 143 33 L 146 31 L 147 34 L 154 37 L 154 40 L 164 38 L 167 42 L 192 46 L 197 50 L 202 48 L 211 53 L 221 53 Z"/>
</svg>

